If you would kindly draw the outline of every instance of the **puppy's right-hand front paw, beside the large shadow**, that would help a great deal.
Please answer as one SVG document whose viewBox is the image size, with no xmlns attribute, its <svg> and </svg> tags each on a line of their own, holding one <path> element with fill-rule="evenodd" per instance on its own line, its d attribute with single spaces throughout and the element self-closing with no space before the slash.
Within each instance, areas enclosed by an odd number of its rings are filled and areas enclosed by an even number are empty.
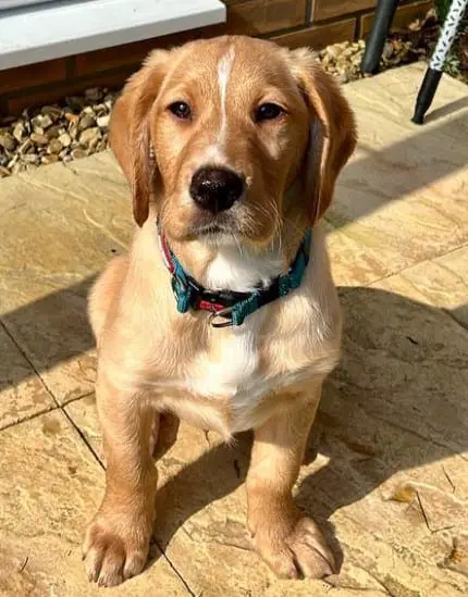
<svg viewBox="0 0 468 597">
<path fill-rule="evenodd" d="M 282 528 L 263 528 L 256 534 L 258 554 L 282 579 L 323 579 L 336 570 L 335 559 L 317 524 L 299 519 L 283 536 Z"/>
</svg>

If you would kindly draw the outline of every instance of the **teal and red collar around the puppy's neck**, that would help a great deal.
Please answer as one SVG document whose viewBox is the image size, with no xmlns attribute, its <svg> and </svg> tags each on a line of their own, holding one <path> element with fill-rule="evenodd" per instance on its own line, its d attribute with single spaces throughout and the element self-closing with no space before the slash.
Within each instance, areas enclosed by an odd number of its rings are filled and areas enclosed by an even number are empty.
<svg viewBox="0 0 468 597">
<path fill-rule="evenodd" d="M 307 228 L 287 273 L 273 278 L 269 286 L 251 293 L 235 293 L 232 290 L 208 290 L 200 286 L 184 271 L 165 236 L 161 232 L 158 234 L 165 265 L 172 275 L 172 289 L 177 311 L 180 313 L 186 313 L 190 309 L 210 311 L 210 323 L 213 327 L 242 325 L 248 315 L 273 300 L 287 296 L 291 290 L 300 286 L 304 272 L 309 263 L 312 239 L 312 231 Z"/>
</svg>

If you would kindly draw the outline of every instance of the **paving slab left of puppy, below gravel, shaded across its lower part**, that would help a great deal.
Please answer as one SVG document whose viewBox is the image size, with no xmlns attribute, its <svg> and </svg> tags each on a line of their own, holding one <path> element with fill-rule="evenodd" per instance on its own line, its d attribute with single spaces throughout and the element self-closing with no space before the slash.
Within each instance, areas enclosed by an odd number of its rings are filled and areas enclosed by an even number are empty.
<svg viewBox="0 0 468 597">
<path fill-rule="evenodd" d="M 133 223 L 109 152 L 1 182 L 0 318 L 56 399 L 93 390 L 86 297 Z"/>
</svg>

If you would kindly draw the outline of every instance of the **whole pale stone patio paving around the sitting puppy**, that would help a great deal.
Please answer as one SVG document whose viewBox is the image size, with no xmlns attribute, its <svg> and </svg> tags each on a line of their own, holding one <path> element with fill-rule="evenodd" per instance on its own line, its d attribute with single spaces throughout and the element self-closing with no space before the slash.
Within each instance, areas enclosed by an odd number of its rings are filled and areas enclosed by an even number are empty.
<svg viewBox="0 0 468 597">
<path fill-rule="evenodd" d="M 249 436 L 229 448 L 182 425 L 149 565 L 88 584 L 104 474 L 85 303 L 127 247 L 128 191 L 108 152 L 1 181 L 0 595 L 468 594 L 468 96 L 444 77 L 417 127 L 422 75 L 345 87 L 360 142 L 327 216 L 344 350 L 296 488 L 342 562 L 328 583 L 279 581 L 249 550 Z"/>
</svg>

